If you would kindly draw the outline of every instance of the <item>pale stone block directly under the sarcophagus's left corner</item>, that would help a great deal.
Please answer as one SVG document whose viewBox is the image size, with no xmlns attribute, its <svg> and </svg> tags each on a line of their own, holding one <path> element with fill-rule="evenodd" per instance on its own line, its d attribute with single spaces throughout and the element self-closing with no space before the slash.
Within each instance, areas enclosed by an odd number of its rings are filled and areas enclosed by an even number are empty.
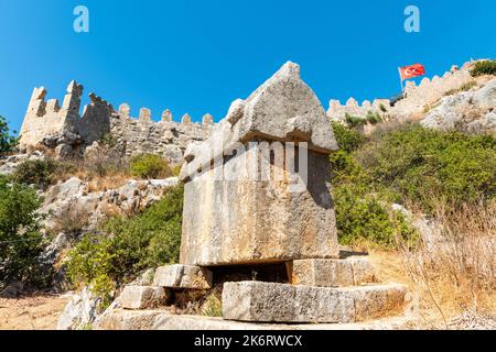
<svg viewBox="0 0 496 352">
<path fill-rule="evenodd" d="M 212 272 L 204 267 L 173 264 L 157 270 L 153 286 L 209 289 L 212 279 Z"/>
</svg>

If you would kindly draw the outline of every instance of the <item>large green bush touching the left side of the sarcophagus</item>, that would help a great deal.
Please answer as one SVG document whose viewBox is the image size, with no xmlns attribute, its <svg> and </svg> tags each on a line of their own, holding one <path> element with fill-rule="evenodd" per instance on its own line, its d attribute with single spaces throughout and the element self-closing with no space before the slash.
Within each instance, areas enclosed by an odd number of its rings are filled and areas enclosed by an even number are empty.
<svg viewBox="0 0 496 352">
<path fill-rule="evenodd" d="M 129 219 L 112 218 L 103 233 L 87 234 L 68 253 L 67 273 L 74 283 L 91 285 L 101 297 L 139 272 L 176 263 L 181 245 L 183 186 Z"/>
</svg>

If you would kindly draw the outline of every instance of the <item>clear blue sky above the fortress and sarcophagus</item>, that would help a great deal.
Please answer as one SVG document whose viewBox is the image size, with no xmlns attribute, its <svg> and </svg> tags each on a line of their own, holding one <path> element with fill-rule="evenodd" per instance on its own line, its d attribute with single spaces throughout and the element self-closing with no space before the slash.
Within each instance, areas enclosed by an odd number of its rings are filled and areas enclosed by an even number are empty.
<svg viewBox="0 0 496 352">
<path fill-rule="evenodd" d="M 73 31 L 73 9 L 89 9 L 90 32 Z M 403 10 L 421 10 L 421 32 L 403 30 Z M 471 57 L 496 57 L 494 0 L 117 1 L 1 0 L 0 114 L 19 129 L 35 86 L 64 96 L 76 79 L 116 108 L 126 101 L 154 119 L 211 112 L 222 119 L 284 62 L 327 109 L 399 91 L 397 67 L 428 75 Z"/>
</svg>

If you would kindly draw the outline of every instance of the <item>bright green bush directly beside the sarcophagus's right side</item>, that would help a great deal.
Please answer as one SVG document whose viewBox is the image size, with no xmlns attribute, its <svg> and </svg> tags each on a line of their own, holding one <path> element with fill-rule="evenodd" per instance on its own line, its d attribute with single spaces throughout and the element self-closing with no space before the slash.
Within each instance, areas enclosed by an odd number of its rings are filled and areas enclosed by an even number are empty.
<svg viewBox="0 0 496 352">
<path fill-rule="evenodd" d="M 413 243 L 416 231 L 401 213 L 391 210 L 393 194 L 375 186 L 355 157 L 356 151 L 367 148 L 365 138 L 338 123 L 333 123 L 333 130 L 341 147 L 331 155 L 339 242 L 354 244 L 366 240 L 382 248 L 393 248 L 398 240 Z"/>
</svg>

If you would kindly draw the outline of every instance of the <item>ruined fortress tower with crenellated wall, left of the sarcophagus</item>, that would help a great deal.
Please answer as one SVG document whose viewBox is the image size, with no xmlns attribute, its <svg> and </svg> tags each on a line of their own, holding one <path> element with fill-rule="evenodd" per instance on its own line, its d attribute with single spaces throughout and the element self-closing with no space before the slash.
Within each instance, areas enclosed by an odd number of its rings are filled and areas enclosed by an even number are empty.
<svg viewBox="0 0 496 352">
<path fill-rule="evenodd" d="M 44 145 L 55 148 L 61 157 L 80 155 L 85 146 L 110 133 L 125 146 L 128 156 L 157 153 L 179 163 L 186 145 L 208 138 L 214 125 L 208 113 L 202 123 L 192 122 L 187 113 L 181 122 L 174 122 L 170 110 L 165 110 L 162 120 L 155 122 L 147 108 L 140 109 L 138 119 L 132 119 L 127 103 L 115 111 L 110 103 L 95 94 L 89 95 L 90 103 L 80 114 L 83 90 L 83 86 L 73 80 L 61 107 L 57 99 L 45 101 L 47 91 L 44 87 L 34 88 L 21 128 L 21 150 Z"/>
</svg>

